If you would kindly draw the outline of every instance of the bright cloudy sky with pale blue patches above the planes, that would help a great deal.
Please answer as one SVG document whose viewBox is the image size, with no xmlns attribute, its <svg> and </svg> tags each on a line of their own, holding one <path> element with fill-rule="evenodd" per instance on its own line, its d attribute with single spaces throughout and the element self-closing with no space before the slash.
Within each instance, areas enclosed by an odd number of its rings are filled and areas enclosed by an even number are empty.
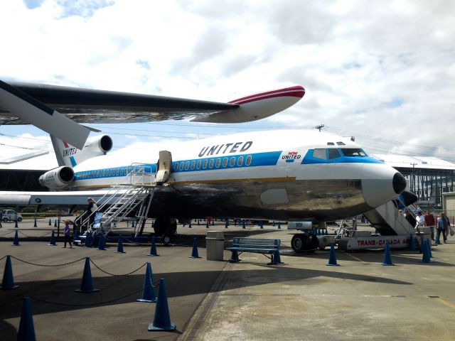
<svg viewBox="0 0 455 341">
<path fill-rule="evenodd" d="M 255 123 L 95 125 L 117 148 L 325 124 L 369 153 L 455 162 L 455 1 L 1 0 L 0 13 L 6 82 L 218 102 L 306 89 Z M 9 146 L 50 148 L 32 126 L 0 134 Z"/>
</svg>

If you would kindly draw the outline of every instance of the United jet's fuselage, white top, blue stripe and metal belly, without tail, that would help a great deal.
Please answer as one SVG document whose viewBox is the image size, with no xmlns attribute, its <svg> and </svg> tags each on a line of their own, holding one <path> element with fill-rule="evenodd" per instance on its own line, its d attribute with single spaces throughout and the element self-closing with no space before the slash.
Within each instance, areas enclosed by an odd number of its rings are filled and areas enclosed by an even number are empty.
<svg viewBox="0 0 455 341">
<path fill-rule="evenodd" d="M 349 139 L 302 130 L 97 156 L 74 166 L 72 186 L 107 188 L 124 182 L 133 167 L 154 177 L 160 150 L 171 152 L 172 168 L 166 185 L 154 193 L 151 217 L 333 220 L 382 205 L 404 190 L 394 185 L 400 175 L 395 169 L 369 158 Z"/>
</svg>

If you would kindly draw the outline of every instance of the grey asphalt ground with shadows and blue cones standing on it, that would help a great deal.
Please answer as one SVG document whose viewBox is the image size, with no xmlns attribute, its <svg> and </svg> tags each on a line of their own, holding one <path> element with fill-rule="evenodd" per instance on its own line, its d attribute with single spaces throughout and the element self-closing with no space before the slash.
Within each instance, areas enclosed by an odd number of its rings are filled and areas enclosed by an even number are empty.
<svg viewBox="0 0 455 341">
<path fill-rule="evenodd" d="M 32 298 L 37 340 L 455 340 L 454 237 L 432 247 L 429 264 L 416 251 L 392 250 L 395 266 L 382 266 L 383 251 L 372 250 L 336 251 L 340 266 L 326 266 L 328 249 L 296 255 L 289 249 L 292 233 L 277 225 L 179 226 L 174 245 L 159 245 L 157 257 L 147 256 L 149 244 L 125 244 L 125 254 L 114 253 L 115 244 L 105 251 L 62 249 L 60 241 L 50 247 L 46 239 L 53 227 L 26 223 L 19 227 L 21 245 L 14 247 L 14 234 L 6 234 L 12 227 L 0 229 L 0 258 L 15 257 L 19 288 L 0 291 L 1 340 L 16 340 L 24 296 Z M 208 230 L 223 231 L 226 239 L 279 238 L 284 264 L 269 266 L 261 254 L 246 253 L 230 264 L 228 251 L 225 261 L 207 261 Z M 200 259 L 189 258 L 193 237 Z M 97 293 L 74 291 L 84 266 L 77 260 L 86 256 L 96 264 L 91 270 Z M 147 330 L 156 303 L 136 301 L 146 261 L 154 280 L 166 280 L 174 332 Z M 4 264 L 2 259 L 0 269 Z M 43 266 L 55 264 L 66 265 Z M 138 268 L 127 276 L 103 272 L 123 275 Z"/>
</svg>

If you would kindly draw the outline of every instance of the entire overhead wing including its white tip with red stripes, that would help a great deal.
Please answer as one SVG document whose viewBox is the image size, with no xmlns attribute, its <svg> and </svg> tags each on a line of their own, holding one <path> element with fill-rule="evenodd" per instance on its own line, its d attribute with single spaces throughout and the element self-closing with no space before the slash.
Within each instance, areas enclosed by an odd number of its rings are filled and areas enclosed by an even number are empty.
<svg viewBox="0 0 455 341">
<path fill-rule="evenodd" d="M 8 84 L 77 123 L 137 123 L 187 118 L 216 123 L 255 121 L 281 112 L 305 94 L 304 88 L 297 85 L 221 103 L 24 82 Z M 0 125 L 30 123 L 11 114 L 2 107 L 0 100 Z"/>
</svg>

